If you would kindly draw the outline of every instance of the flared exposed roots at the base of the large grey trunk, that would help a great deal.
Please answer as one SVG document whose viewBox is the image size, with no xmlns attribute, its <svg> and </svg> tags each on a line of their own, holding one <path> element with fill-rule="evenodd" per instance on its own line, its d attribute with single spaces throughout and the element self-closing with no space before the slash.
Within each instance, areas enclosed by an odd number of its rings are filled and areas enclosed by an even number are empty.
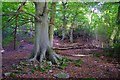
<svg viewBox="0 0 120 80">
<path fill-rule="evenodd" d="M 36 52 L 36 51 L 35 51 Z M 32 57 L 29 59 L 29 62 L 38 62 L 40 66 L 42 66 L 43 60 L 50 60 L 53 64 L 59 64 L 58 60 L 61 58 L 58 54 L 56 54 L 52 48 L 47 47 L 47 49 L 39 49 L 36 54 L 31 55 Z"/>
</svg>

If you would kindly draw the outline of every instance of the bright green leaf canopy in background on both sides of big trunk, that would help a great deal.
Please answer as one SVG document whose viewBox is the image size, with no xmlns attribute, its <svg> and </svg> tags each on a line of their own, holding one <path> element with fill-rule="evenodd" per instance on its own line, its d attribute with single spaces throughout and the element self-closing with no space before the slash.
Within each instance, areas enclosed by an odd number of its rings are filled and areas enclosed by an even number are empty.
<svg viewBox="0 0 120 80">
<path fill-rule="evenodd" d="M 83 34 L 89 35 L 89 37 L 97 37 L 99 39 L 103 38 L 108 41 L 111 37 L 114 27 L 116 26 L 116 17 L 118 13 L 118 4 L 104 3 L 102 6 L 98 6 L 99 2 L 68 2 L 66 4 L 66 10 L 63 9 L 62 3 L 59 2 L 56 5 L 56 15 L 55 15 L 55 31 L 58 36 L 62 36 L 63 26 L 63 14 L 66 16 L 66 33 L 69 35 L 69 30 L 71 24 L 74 23 L 73 34 Z M 11 12 L 16 12 L 18 7 L 21 5 L 21 2 L 3 2 L 2 3 L 2 14 L 9 14 Z M 48 3 L 48 7 L 51 8 L 51 2 Z M 97 8 L 100 13 L 95 13 L 92 9 Z M 35 5 L 33 2 L 27 2 L 25 6 L 22 7 L 22 10 L 30 14 L 35 13 Z M 52 11 L 51 11 L 52 12 Z M 51 12 L 49 12 L 49 17 Z M 76 18 L 73 21 L 73 17 L 77 13 Z M 22 25 L 30 24 L 34 22 L 34 17 L 28 14 L 19 14 L 18 27 L 21 28 Z M 9 21 L 9 19 L 11 19 Z M 16 26 L 15 16 L 3 16 L 3 45 L 8 45 L 13 39 L 13 35 L 9 35 L 14 31 Z M 19 29 L 18 28 L 18 29 Z M 24 26 L 24 28 L 29 29 L 30 26 Z M 19 31 L 19 30 L 18 30 Z M 119 36 L 117 36 L 119 37 Z M 29 42 L 33 42 L 33 39 L 30 39 Z"/>
</svg>

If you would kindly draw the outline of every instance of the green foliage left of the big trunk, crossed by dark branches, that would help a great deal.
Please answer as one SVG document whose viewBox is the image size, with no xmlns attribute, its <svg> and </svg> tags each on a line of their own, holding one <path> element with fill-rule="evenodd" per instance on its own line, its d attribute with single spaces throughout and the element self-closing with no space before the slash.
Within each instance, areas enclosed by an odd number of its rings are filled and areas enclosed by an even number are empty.
<svg viewBox="0 0 120 80">
<path fill-rule="evenodd" d="M 10 13 L 16 12 L 20 5 L 21 5 L 21 2 L 3 2 L 2 3 L 2 14 L 10 14 Z M 22 7 L 22 10 L 29 12 L 31 14 L 34 14 L 35 12 L 34 5 L 32 2 L 26 3 L 25 6 Z M 34 18 L 30 15 L 19 14 L 18 27 L 20 28 L 22 25 L 32 22 L 33 19 Z M 11 14 L 10 16 L 2 16 L 3 46 L 6 47 L 11 42 L 13 42 L 13 37 L 14 37 L 13 34 L 14 34 L 15 26 L 16 26 L 15 15 Z"/>
</svg>

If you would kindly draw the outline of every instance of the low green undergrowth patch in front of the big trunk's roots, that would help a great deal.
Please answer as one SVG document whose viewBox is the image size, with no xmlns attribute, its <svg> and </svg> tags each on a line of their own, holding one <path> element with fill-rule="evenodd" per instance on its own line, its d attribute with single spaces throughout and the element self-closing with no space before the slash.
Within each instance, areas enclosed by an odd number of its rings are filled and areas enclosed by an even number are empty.
<svg viewBox="0 0 120 80">
<path fill-rule="evenodd" d="M 52 71 L 53 67 L 64 70 L 67 66 L 69 66 L 70 63 L 73 63 L 76 67 L 80 67 L 83 61 L 80 59 L 71 60 L 64 57 L 59 60 L 58 65 L 52 64 L 51 61 L 43 61 L 42 67 L 40 67 L 39 62 L 33 63 L 28 61 L 21 61 L 19 62 L 19 64 L 13 64 L 12 65 L 13 71 L 5 73 L 5 76 L 16 77 L 16 75 L 32 74 L 36 71 L 39 71 L 41 73 L 46 73 Z"/>
</svg>

